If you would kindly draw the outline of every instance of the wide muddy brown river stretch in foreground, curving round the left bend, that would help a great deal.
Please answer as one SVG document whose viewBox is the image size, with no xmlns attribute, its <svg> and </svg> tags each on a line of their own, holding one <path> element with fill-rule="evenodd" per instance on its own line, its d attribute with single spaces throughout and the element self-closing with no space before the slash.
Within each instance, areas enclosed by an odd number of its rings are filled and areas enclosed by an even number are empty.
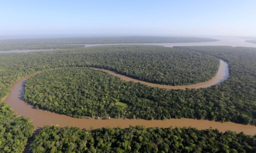
<svg viewBox="0 0 256 153">
<path fill-rule="evenodd" d="M 36 73 L 35 73 L 36 74 Z M 44 125 L 56 125 L 58 124 L 60 127 L 64 126 L 77 126 L 80 128 L 89 129 L 93 128 L 101 128 L 104 126 L 109 127 L 129 127 L 129 125 L 143 125 L 145 127 L 196 127 L 200 129 L 207 128 L 217 128 L 220 131 L 224 132 L 226 130 L 232 130 L 236 132 L 243 131 L 245 134 L 254 135 L 256 134 L 256 126 L 252 125 L 243 125 L 237 124 L 233 122 L 216 122 L 209 120 L 196 120 L 196 119 L 166 119 L 166 120 L 144 120 L 144 119 L 81 119 L 81 118 L 73 118 L 66 115 L 59 115 L 55 113 L 51 113 L 48 111 L 43 111 L 39 109 L 34 109 L 33 106 L 25 103 L 23 101 L 22 95 L 24 92 L 24 83 L 27 78 L 35 75 L 29 75 L 22 79 L 19 79 L 15 82 L 11 88 L 9 95 L 4 99 L 4 102 L 10 105 L 13 110 L 18 114 L 25 117 L 29 117 L 32 119 L 35 129 L 43 127 Z"/>
</svg>

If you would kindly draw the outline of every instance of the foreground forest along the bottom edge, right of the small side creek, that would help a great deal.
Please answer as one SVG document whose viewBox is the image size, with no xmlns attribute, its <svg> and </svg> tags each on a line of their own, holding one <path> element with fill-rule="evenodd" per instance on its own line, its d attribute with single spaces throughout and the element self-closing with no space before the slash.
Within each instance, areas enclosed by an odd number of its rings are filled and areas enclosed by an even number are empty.
<svg viewBox="0 0 256 153">
<path fill-rule="evenodd" d="M 32 153 L 255 153 L 256 136 L 196 128 L 107 128 L 81 130 L 46 126 L 31 144 Z"/>
</svg>

